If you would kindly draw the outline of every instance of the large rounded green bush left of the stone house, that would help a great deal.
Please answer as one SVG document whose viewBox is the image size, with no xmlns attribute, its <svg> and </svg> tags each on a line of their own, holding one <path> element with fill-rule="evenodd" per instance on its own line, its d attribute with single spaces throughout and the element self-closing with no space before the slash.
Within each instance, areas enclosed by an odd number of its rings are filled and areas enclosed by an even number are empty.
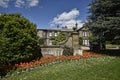
<svg viewBox="0 0 120 80">
<path fill-rule="evenodd" d="M 36 25 L 20 14 L 0 15 L 0 67 L 40 56 Z"/>
</svg>

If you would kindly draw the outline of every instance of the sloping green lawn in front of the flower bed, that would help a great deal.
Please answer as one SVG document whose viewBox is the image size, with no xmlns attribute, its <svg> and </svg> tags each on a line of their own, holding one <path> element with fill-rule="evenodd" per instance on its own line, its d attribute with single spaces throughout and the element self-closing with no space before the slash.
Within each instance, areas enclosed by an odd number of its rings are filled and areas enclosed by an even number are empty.
<svg viewBox="0 0 120 80">
<path fill-rule="evenodd" d="M 119 80 L 120 57 L 84 58 L 37 68 L 1 80 Z"/>
</svg>

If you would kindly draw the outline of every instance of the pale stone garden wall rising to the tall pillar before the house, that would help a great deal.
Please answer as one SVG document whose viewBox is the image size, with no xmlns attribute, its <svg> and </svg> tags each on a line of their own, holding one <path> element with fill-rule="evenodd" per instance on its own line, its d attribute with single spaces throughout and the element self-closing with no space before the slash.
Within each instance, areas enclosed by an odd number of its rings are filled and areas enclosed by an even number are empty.
<svg viewBox="0 0 120 80">
<path fill-rule="evenodd" d="M 74 55 L 82 55 L 82 50 L 80 50 L 79 48 L 79 34 L 78 32 L 73 32 L 71 34 L 71 36 L 68 37 L 67 41 L 65 42 L 65 44 L 61 45 L 62 47 L 66 45 L 69 47 L 73 47 L 74 48 Z M 47 55 L 53 55 L 53 56 L 61 56 L 63 53 L 63 48 L 60 46 L 44 46 L 41 47 L 41 52 L 43 54 L 43 56 L 47 56 Z"/>
</svg>

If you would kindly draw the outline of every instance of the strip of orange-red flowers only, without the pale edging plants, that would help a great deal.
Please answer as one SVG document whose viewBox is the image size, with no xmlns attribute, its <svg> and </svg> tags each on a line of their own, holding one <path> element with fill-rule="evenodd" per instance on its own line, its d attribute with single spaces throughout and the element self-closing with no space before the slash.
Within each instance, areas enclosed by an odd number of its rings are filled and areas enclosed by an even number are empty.
<svg viewBox="0 0 120 80">
<path fill-rule="evenodd" d="M 48 57 L 42 57 L 39 60 L 33 60 L 31 62 L 24 62 L 20 64 L 15 64 L 15 68 L 20 68 L 20 69 L 27 69 L 29 67 L 35 67 L 36 65 L 44 65 L 48 64 L 51 62 L 56 62 L 56 61 L 64 61 L 64 60 L 79 60 L 80 58 L 89 58 L 89 57 L 99 57 L 101 56 L 100 54 L 96 54 L 93 52 L 83 52 L 82 56 L 48 56 Z"/>
</svg>

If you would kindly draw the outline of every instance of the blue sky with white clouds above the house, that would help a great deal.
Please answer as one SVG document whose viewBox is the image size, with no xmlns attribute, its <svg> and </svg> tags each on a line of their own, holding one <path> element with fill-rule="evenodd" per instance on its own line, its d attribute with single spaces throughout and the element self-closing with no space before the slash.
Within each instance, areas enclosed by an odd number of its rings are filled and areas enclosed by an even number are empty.
<svg viewBox="0 0 120 80">
<path fill-rule="evenodd" d="M 81 27 L 92 0 L 0 0 L 0 12 L 20 13 L 37 28 Z"/>
</svg>

